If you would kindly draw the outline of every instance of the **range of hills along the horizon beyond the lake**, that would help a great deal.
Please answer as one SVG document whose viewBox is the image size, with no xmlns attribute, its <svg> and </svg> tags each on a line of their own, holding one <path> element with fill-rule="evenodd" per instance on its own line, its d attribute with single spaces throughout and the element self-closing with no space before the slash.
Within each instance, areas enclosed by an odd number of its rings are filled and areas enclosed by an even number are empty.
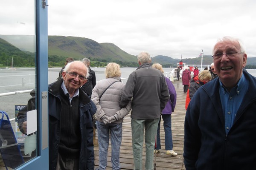
<svg viewBox="0 0 256 170">
<path fill-rule="evenodd" d="M 19 47 L 18 41 L 23 42 L 28 37 L 34 38 L 34 36 L 27 35 L 0 35 L 1 37 L 10 44 L 15 41 L 14 46 L 25 51 L 27 50 L 26 47 Z M 100 62 L 137 62 L 137 56 L 128 54 L 113 43 L 98 43 L 88 38 L 72 36 L 48 36 L 48 55 L 75 59 L 87 57 Z M 180 59 L 163 55 L 157 55 L 151 59 L 153 63 L 158 62 L 162 65 L 177 65 L 180 62 Z M 201 57 L 182 59 L 182 61 L 186 65 L 201 65 Z M 203 65 L 210 65 L 211 63 L 211 55 L 204 55 Z M 256 57 L 247 58 L 247 65 L 256 65 Z"/>
</svg>

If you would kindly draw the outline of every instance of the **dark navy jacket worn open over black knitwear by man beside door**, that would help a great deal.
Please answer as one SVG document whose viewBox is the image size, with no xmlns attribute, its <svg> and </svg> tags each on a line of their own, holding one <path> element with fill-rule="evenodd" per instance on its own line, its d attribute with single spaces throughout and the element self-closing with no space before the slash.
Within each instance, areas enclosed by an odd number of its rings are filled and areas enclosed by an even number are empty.
<svg viewBox="0 0 256 170">
<path fill-rule="evenodd" d="M 60 141 L 61 99 L 59 91 L 63 79 L 49 85 L 49 170 L 55 170 Z M 96 106 L 79 88 L 79 114 L 81 129 L 80 170 L 94 170 L 93 114 Z M 79 126 L 79 125 L 78 125 Z"/>
</svg>

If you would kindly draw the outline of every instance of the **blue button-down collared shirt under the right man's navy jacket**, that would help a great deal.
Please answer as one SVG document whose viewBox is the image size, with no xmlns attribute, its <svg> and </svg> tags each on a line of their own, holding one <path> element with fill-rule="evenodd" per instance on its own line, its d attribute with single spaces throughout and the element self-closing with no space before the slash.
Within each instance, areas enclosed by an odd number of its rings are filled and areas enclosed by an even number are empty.
<svg viewBox="0 0 256 170">
<path fill-rule="evenodd" d="M 227 91 L 220 80 L 219 92 L 222 110 L 224 111 L 226 134 L 229 133 L 229 130 L 233 125 L 236 113 L 244 99 L 248 86 L 249 81 L 244 77 L 244 74 L 242 74 L 239 82 L 230 92 Z"/>
</svg>

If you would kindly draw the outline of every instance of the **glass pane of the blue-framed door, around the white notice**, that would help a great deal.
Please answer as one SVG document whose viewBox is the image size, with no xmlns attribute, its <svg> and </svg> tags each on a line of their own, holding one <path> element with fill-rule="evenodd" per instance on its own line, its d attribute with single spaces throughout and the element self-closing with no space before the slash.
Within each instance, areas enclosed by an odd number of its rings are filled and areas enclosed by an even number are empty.
<svg viewBox="0 0 256 170">
<path fill-rule="evenodd" d="M 6 170 L 37 156 L 37 132 L 23 126 L 37 106 L 35 1 L 2 0 L 0 16 L 0 170 Z"/>
</svg>

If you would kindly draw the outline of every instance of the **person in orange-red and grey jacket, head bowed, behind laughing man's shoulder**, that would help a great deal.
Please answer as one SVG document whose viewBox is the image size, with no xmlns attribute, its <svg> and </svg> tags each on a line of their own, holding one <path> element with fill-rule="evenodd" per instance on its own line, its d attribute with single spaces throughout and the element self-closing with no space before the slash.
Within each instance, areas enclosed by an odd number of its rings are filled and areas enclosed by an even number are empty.
<svg viewBox="0 0 256 170">
<path fill-rule="evenodd" d="M 208 70 L 204 70 L 201 73 L 198 74 L 198 76 L 195 76 L 192 78 L 189 90 L 187 92 L 186 96 L 186 102 L 185 102 L 185 108 L 187 110 L 190 99 L 194 96 L 195 92 L 200 88 L 202 85 L 206 84 L 212 79 L 212 75 Z"/>
</svg>

